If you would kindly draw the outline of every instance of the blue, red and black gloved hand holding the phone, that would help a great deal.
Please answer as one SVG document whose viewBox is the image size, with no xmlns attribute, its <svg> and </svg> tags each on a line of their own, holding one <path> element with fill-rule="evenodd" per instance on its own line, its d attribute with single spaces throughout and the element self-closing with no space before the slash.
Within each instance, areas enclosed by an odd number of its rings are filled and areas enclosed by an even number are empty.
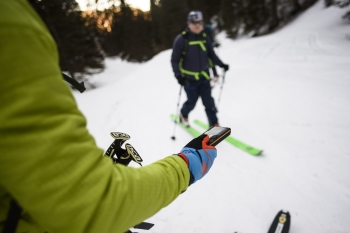
<svg viewBox="0 0 350 233">
<path fill-rule="evenodd" d="M 178 156 L 180 156 L 187 163 L 190 170 L 190 183 L 195 183 L 205 176 L 216 158 L 216 148 L 207 145 L 209 141 L 208 135 L 201 136 L 190 141 Z"/>
</svg>

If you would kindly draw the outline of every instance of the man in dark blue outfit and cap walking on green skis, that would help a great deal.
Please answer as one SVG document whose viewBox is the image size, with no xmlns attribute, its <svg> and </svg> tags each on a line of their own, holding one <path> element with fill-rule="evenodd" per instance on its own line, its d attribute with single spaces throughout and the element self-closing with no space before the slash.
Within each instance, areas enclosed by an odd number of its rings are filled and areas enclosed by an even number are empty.
<svg viewBox="0 0 350 233">
<path fill-rule="evenodd" d="M 218 126 L 217 110 L 211 96 L 209 59 L 225 71 L 229 69 L 215 54 L 212 41 L 204 32 L 203 15 L 191 11 L 187 28 L 175 38 L 171 64 L 178 83 L 184 86 L 187 101 L 181 108 L 180 121 L 189 127 L 188 115 L 201 97 L 210 126 Z"/>
</svg>

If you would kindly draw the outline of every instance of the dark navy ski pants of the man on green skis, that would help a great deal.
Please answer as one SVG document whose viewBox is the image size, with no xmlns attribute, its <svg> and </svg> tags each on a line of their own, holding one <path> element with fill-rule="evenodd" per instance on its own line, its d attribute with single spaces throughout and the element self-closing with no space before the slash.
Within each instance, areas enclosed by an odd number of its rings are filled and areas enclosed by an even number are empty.
<svg viewBox="0 0 350 233">
<path fill-rule="evenodd" d="M 214 124 L 217 124 L 217 110 L 215 107 L 214 99 L 211 96 L 210 81 L 203 78 L 198 81 L 189 81 L 189 85 L 184 86 L 184 89 L 187 94 L 187 101 L 181 108 L 182 116 L 187 118 L 188 114 L 196 106 L 198 98 L 201 97 L 202 103 L 205 107 L 205 112 L 207 113 L 209 125 L 213 126 Z"/>
</svg>

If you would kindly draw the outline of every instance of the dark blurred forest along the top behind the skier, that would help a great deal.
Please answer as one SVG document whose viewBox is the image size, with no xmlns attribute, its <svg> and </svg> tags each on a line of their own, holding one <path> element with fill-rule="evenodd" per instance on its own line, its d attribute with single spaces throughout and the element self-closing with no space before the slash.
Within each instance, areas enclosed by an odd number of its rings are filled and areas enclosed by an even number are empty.
<svg viewBox="0 0 350 233">
<path fill-rule="evenodd" d="M 186 28 L 191 10 L 203 12 L 214 34 L 228 38 L 272 33 L 295 19 L 317 0 L 150 0 L 150 11 L 125 0 L 87 0 L 82 11 L 75 0 L 28 0 L 47 25 L 60 55 L 60 67 L 74 79 L 104 70 L 106 57 L 147 62 L 172 47 Z M 325 7 L 346 7 L 350 0 L 324 0 Z M 350 12 L 344 15 L 350 20 Z"/>
</svg>

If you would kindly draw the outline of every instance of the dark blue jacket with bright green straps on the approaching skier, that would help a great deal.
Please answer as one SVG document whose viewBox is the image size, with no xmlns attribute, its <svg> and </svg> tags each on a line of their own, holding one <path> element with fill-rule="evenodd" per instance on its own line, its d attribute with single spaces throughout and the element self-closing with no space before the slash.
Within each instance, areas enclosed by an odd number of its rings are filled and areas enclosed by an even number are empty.
<svg viewBox="0 0 350 233">
<path fill-rule="evenodd" d="M 207 72 L 210 60 L 220 67 L 224 64 L 215 54 L 212 42 L 204 31 L 192 33 L 188 28 L 175 38 L 171 65 L 175 77 L 184 75 L 188 80 L 199 80 L 199 76 L 210 79 Z"/>
</svg>

